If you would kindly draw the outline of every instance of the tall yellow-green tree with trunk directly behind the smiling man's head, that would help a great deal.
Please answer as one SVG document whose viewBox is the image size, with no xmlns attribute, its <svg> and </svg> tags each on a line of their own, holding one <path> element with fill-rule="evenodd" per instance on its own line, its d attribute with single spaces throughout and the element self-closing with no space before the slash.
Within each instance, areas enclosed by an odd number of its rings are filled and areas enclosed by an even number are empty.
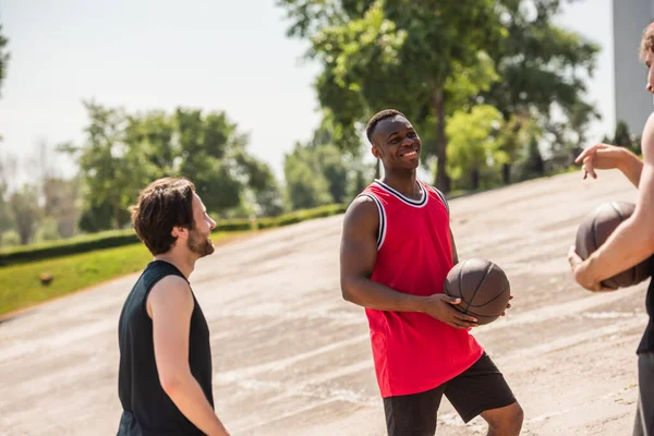
<svg viewBox="0 0 654 436">
<path fill-rule="evenodd" d="M 437 187 L 447 191 L 446 84 L 477 65 L 479 51 L 502 35 L 491 0 L 281 0 L 289 34 L 307 37 L 323 64 L 318 99 L 341 125 L 400 108 L 416 124 L 435 122 Z"/>
</svg>

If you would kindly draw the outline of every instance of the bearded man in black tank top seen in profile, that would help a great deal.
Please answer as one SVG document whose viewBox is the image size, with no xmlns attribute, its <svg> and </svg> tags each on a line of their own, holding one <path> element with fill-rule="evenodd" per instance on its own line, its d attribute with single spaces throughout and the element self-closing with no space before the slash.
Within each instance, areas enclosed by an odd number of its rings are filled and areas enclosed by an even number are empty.
<svg viewBox="0 0 654 436">
<path fill-rule="evenodd" d="M 183 178 L 149 184 L 132 223 L 154 255 L 120 314 L 119 436 L 229 435 L 214 412 L 209 329 L 189 286 L 216 222 Z"/>
</svg>

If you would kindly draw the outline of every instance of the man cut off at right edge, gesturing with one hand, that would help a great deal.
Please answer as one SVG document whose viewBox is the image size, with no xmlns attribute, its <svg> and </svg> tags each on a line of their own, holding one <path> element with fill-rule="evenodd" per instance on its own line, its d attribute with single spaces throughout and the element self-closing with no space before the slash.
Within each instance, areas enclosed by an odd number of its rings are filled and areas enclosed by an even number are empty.
<svg viewBox="0 0 654 436">
<path fill-rule="evenodd" d="M 647 66 L 647 90 L 654 94 L 654 24 L 641 40 L 641 60 Z M 604 245 L 586 261 L 574 246 L 568 253 L 574 279 L 591 291 L 602 290 L 601 282 L 645 261 L 654 253 L 654 113 L 642 135 L 643 160 L 623 147 L 596 144 L 577 158 L 583 162 L 584 179 L 597 178 L 595 169 L 617 168 L 638 189 L 635 211 L 625 220 Z M 654 272 L 654 271 L 653 271 Z M 650 322 L 638 347 L 639 399 L 633 428 L 634 436 L 654 436 L 654 281 L 650 281 L 645 305 Z"/>
</svg>

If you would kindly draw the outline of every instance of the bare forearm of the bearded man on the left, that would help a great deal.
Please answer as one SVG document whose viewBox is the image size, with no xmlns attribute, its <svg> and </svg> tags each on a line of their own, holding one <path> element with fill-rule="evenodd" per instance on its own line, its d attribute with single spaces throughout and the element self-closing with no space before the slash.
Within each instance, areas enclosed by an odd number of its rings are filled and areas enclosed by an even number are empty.
<svg viewBox="0 0 654 436">
<path fill-rule="evenodd" d="M 166 393 L 180 412 L 206 435 L 229 436 L 193 375 L 187 374 L 173 386 L 168 386 Z"/>
</svg>

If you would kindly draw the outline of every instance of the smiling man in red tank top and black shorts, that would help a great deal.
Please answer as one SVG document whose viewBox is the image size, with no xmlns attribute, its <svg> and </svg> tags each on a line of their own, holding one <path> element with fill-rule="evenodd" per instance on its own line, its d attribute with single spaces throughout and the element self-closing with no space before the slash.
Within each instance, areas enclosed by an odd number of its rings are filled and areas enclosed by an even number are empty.
<svg viewBox="0 0 654 436">
<path fill-rule="evenodd" d="M 365 307 L 388 434 L 434 435 L 445 395 L 464 422 L 481 414 L 488 435 L 519 435 L 522 409 L 470 335 L 476 319 L 443 293 L 457 250 L 445 196 L 416 179 L 417 133 L 387 109 L 366 134 L 385 175 L 348 208 L 340 278 L 343 298 Z"/>
</svg>

